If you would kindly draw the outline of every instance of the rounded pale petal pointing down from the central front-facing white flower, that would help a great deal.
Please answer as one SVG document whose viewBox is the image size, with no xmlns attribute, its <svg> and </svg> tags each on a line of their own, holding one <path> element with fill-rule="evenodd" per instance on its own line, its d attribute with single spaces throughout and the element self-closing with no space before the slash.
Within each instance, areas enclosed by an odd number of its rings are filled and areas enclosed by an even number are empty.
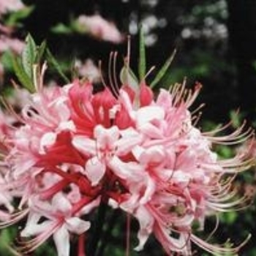
<svg viewBox="0 0 256 256">
<path fill-rule="evenodd" d="M 91 181 L 92 186 L 99 183 L 105 174 L 105 170 L 105 164 L 100 162 L 98 157 L 93 157 L 86 162 L 86 176 Z"/>
</svg>

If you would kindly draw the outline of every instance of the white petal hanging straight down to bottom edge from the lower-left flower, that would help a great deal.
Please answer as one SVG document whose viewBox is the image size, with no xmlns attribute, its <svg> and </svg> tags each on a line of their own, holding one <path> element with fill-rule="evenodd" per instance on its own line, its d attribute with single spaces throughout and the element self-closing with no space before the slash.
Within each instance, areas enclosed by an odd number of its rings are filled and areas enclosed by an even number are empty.
<svg viewBox="0 0 256 256">
<path fill-rule="evenodd" d="M 69 232 L 64 225 L 53 234 L 53 240 L 56 245 L 58 256 L 69 256 Z"/>
</svg>

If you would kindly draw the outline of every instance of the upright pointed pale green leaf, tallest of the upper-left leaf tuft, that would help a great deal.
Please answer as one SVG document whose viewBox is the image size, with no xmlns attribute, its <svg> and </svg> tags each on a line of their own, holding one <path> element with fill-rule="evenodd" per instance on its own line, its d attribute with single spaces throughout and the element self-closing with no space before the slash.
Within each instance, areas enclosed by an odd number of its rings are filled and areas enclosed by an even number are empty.
<svg viewBox="0 0 256 256">
<path fill-rule="evenodd" d="M 33 80 L 33 65 L 37 55 L 37 45 L 30 34 L 26 37 L 26 46 L 21 53 L 21 63 L 24 71 Z"/>
</svg>

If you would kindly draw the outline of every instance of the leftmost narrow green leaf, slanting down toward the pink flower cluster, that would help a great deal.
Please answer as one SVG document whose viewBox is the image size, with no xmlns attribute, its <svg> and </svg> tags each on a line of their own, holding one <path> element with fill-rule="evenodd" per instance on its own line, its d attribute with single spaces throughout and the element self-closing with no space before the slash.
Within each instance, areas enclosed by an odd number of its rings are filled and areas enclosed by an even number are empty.
<svg viewBox="0 0 256 256">
<path fill-rule="evenodd" d="M 19 60 L 16 57 L 12 58 L 12 64 L 13 69 L 15 71 L 15 75 L 20 81 L 21 85 L 28 89 L 30 92 L 34 92 L 35 88 L 33 81 L 31 80 L 31 78 L 29 78 L 29 75 L 25 72 L 22 64 L 20 64 Z"/>
</svg>

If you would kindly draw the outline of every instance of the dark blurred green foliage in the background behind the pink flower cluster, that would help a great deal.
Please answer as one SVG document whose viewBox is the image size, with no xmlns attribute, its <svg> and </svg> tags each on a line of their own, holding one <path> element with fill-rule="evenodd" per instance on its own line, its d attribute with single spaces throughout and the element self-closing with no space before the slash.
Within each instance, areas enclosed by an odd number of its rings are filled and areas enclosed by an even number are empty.
<svg viewBox="0 0 256 256">
<path fill-rule="evenodd" d="M 135 69 L 138 67 L 138 56 L 142 54 L 138 45 L 138 28 L 139 24 L 143 23 L 147 46 L 146 72 L 150 67 L 156 66 L 156 71 L 149 74 L 148 81 L 154 78 L 167 57 L 176 49 L 176 57 L 170 66 L 170 72 L 167 72 L 167 75 L 161 78 L 160 84 L 169 88 L 173 83 L 181 83 L 184 78 L 187 78 L 189 86 L 192 86 L 195 81 L 203 83 L 203 93 L 200 95 L 199 102 L 197 102 L 198 105 L 200 102 L 207 104 L 203 110 L 204 121 L 200 124 L 203 130 L 216 127 L 216 124 L 225 122 L 229 118 L 233 121 L 233 127 L 238 127 L 244 117 L 248 118 L 249 123 L 256 123 L 256 83 L 248 82 L 248 85 L 246 80 L 241 80 L 239 76 L 243 74 L 243 78 L 246 79 L 250 78 L 255 72 L 256 77 L 256 57 L 252 54 L 252 58 L 249 59 L 249 65 L 253 68 L 252 73 L 246 75 L 245 71 L 241 72 L 238 51 L 243 51 L 246 45 L 243 42 L 244 38 L 233 35 L 236 26 L 239 24 L 236 21 L 246 20 L 249 17 L 240 17 L 239 12 L 234 12 L 236 6 L 230 7 L 233 1 L 111 0 L 110 2 L 108 0 L 62 0 L 60 2 L 59 0 L 24 0 L 23 2 L 28 7 L 5 15 L 3 23 L 8 26 L 15 26 L 17 28 L 15 36 L 21 39 L 25 39 L 28 31 L 37 44 L 46 39 L 51 52 L 60 61 L 59 69 L 65 72 L 67 76 L 71 76 L 68 70 L 72 66 L 73 59 L 91 58 L 94 61 L 101 59 L 103 61 L 103 72 L 107 71 L 108 56 L 111 50 L 117 50 L 121 56 L 116 67 L 119 70 L 123 65 L 122 57 L 125 56 L 127 49 L 127 42 L 116 45 L 94 39 L 87 34 L 77 33 L 77 25 L 73 20 L 78 15 L 99 13 L 103 18 L 115 23 L 123 34 L 131 34 L 131 67 Z M 255 7 L 252 1 L 242 2 L 248 8 L 250 8 L 249 4 L 253 8 Z M 252 10 L 254 10 L 253 8 Z M 233 17 L 233 19 L 230 17 Z M 249 26 L 249 23 L 246 24 L 244 26 Z M 241 26 L 238 26 L 237 29 L 241 30 Z M 256 29 L 251 29 L 250 33 L 252 42 L 254 42 Z M 234 41 L 234 38 L 237 42 Z M 238 48 L 239 39 L 244 48 Z M 251 50 L 251 53 L 255 52 L 252 47 L 248 50 Z M 242 58 L 246 61 L 246 57 L 242 56 Z M 0 61 L 6 72 L 4 84 L 9 86 L 13 72 L 10 50 L 1 54 Z M 55 62 L 52 61 L 52 63 Z M 247 64 L 244 63 L 243 67 Z M 55 74 L 50 75 L 56 78 Z M 138 75 L 137 72 L 136 75 Z M 142 71 L 141 75 L 145 75 L 145 71 Z M 63 80 L 61 81 L 63 82 Z M 242 86 L 247 90 L 248 86 L 251 86 L 251 93 L 246 92 L 248 97 L 244 97 L 244 92 L 241 93 Z M 248 108 L 244 104 L 247 101 L 250 101 Z M 237 115 L 236 110 L 240 105 L 242 107 L 244 105 L 245 108 L 241 108 L 240 114 Z M 225 146 L 219 146 L 217 151 L 220 157 L 225 158 L 233 155 L 236 148 L 230 150 Z M 247 187 L 255 186 L 255 170 L 249 170 L 239 175 L 236 178 L 236 186 L 241 195 L 246 192 Z M 112 215 L 113 210 L 108 209 L 107 218 Z M 255 216 L 255 200 L 244 211 L 221 214 L 219 230 L 214 236 L 214 241 L 225 243 L 223 239 L 230 238 L 230 241 L 239 244 L 244 241 L 248 233 L 252 233 L 252 238 L 242 249 L 241 255 L 256 255 L 256 245 L 253 242 L 256 234 Z M 112 233 L 108 233 L 109 222 L 103 227 L 103 236 L 104 234 L 105 236 L 108 235 L 108 241 L 110 241 L 105 248 L 104 255 L 124 255 L 126 219 L 123 216 L 119 218 L 121 224 L 116 225 Z M 206 230 L 210 230 L 210 233 L 215 225 L 214 223 L 215 219 L 209 219 Z M 23 225 L 23 223 L 20 223 L 20 225 Z M 137 243 L 136 230 L 138 230 L 138 224 L 132 220 L 131 248 Z M 9 231 L 1 231 L 0 255 L 13 255 L 7 246 L 10 245 L 10 241 L 13 241 L 13 236 L 12 228 Z M 207 234 L 201 234 L 201 236 L 207 237 Z M 102 246 L 102 244 L 99 244 L 99 246 Z M 54 254 L 55 251 L 51 241 L 37 250 L 37 255 Z M 72 255 L 75 255 L 75 252 Z M 130 255 L 159 256 L 163 255 L 163 252 L 154 238 L 150 238 L 144 252 L 135 253 L 131 249 Z M 206 256 L 208 254 L 198 251 L 198 255 Z"/>
</svg>

